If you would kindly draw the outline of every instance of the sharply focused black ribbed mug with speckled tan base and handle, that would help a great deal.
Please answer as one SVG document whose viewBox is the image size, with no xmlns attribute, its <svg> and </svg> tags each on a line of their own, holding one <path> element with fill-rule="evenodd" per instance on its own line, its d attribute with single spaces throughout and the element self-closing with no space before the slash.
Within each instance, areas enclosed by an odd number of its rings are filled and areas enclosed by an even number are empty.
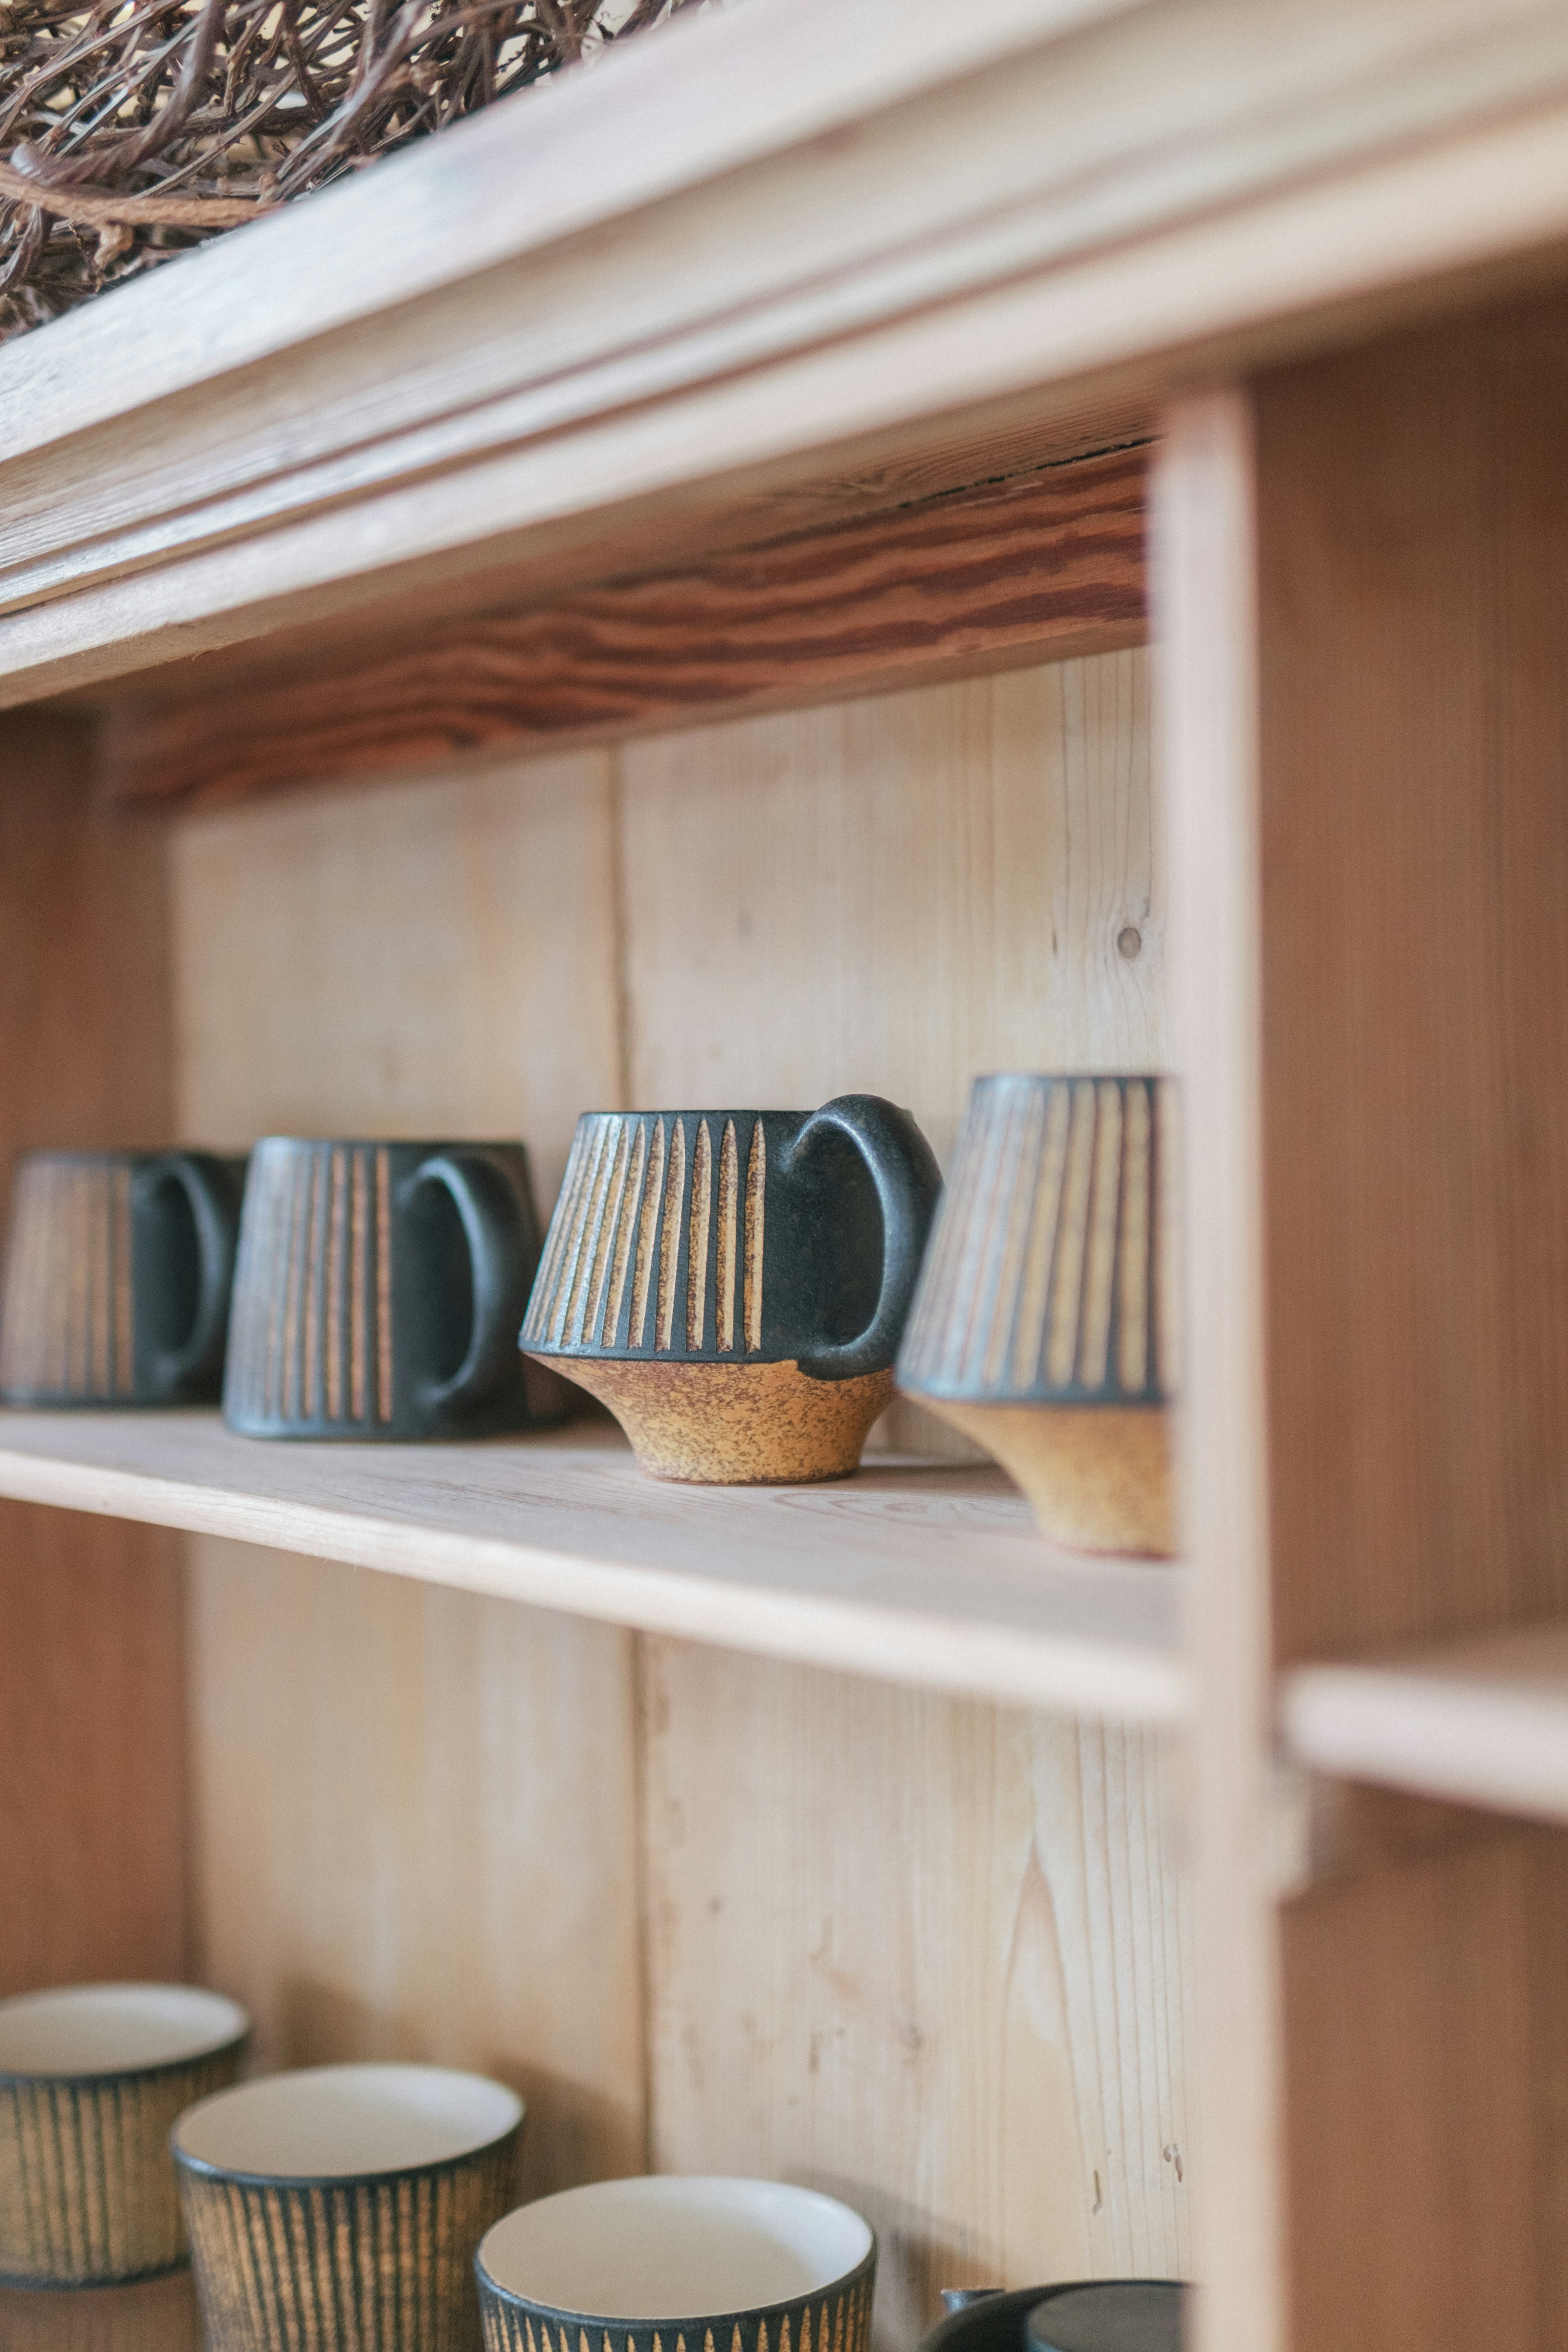
<svg viewBox="0 0 1568 2352">
<path fill-rule="evenodd" d="M 940 1176 L 907 1110 L 588 1112 L 522 1345 L 656 1477 L 844 1477 L 893 1395 Z"/>
</svg>

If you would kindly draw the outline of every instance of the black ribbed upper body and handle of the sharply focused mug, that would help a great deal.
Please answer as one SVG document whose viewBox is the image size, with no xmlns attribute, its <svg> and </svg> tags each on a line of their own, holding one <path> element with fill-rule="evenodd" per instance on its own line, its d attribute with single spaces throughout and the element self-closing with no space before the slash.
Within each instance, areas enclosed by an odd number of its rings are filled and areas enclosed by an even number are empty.
<svg viewBox="0 0 1568 2352">
<path fill-rule="evenodd" d="M 907 1110 L 588 1112 L 522 1345 L 628 1362 L 886 1371 L 940 1192 Z"/>
</svg>

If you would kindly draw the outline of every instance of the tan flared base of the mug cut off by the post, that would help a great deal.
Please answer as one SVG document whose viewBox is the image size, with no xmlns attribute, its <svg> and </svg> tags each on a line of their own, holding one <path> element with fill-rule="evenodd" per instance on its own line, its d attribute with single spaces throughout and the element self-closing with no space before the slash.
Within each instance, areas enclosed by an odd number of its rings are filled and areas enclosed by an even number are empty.
<svg viewBox="0 0 1568 2352">
<path fill-rule="evenodd" d="M 1051 1543 L 1161 1559 L 1175 1550 L 1171 1414 L 1164 1406 L 919 1402 L 997 1456 Z"/>
</svg>

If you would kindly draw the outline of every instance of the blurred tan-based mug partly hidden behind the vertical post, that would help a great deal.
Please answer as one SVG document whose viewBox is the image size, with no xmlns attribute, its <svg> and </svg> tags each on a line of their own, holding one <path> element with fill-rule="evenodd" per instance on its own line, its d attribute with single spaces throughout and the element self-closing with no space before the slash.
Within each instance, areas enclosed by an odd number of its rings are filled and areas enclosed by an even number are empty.
<svg viewBox="0 0 1568 2352">
<path fill-rule="evenodd" d="M 1056 1543 L 1171 1552 L 1175 1089 L 980 1077 L 898 1385 L 994 1454 Z"/>
</svg>

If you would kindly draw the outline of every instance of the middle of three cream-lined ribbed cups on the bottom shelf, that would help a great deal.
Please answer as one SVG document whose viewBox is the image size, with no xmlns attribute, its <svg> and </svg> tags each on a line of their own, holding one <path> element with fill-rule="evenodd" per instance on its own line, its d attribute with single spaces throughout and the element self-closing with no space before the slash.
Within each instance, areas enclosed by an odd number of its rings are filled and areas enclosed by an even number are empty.
<svg viewBox="0 0 1568 2352">
<path fill-rule="evenodd" d="M 473 2256 L 515 2197 L 522 2100 L 433 2065 L 322 2065 L 181 2114 L 212 2352 L 470 2352 Z"/>
</svg>

